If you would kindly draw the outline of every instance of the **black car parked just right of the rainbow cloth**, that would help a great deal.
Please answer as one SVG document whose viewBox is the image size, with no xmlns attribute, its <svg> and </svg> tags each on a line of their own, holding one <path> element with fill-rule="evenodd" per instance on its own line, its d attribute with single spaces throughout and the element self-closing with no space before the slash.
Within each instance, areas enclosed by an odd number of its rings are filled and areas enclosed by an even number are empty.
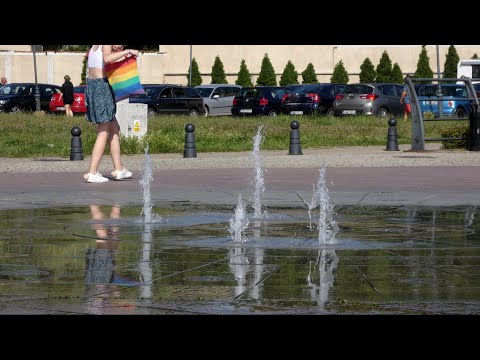
<svg viewBox="0 0 480 360">
<path fill-rule="evenodd" d="M 130 97 L 131 103 L 148 105 L 148 116 L 205 115 L 203 98 L 197 90 L 189 86 L 173 84 L 145 84 L 145 94 Z"/>
</svg>

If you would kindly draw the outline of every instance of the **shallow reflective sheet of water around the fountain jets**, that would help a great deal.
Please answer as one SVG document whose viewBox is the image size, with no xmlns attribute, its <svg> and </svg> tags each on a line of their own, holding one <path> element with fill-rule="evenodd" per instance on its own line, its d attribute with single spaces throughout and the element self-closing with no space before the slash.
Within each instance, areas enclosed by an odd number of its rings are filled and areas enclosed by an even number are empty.
<svg viewBox="0 0 480 360">
<path fill-rule="evenodd" d="M 1 314 L 480 314 L 476 207 L 337 206 L 334 243 L 305 209 L 241 237 L 234 208 L 1 211 Z"/>
</svg>

